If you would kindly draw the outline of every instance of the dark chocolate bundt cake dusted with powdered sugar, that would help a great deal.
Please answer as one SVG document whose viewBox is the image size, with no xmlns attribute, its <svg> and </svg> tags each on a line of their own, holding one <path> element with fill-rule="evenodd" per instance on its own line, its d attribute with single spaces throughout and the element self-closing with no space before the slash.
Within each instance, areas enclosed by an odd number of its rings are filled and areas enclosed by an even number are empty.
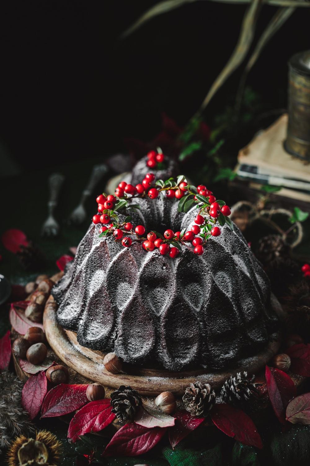
<svg viewBox="0 0 310 466">
<path fill-rule="evenodd" d="M 189 228 L 197 214 L 178 212 L 176 199 L 135 202 L 132 223 L 146 231 Z M 267 346 L 277 328 L 269 280 L 236 226 L 222 226 L 203 255 L 182 245 L 173 260 L 99 238 L 99 228 L 89 227 L 52 292 L 58 322 L 82 346 L 169 370 L 231 368 Z"/>
</svg>

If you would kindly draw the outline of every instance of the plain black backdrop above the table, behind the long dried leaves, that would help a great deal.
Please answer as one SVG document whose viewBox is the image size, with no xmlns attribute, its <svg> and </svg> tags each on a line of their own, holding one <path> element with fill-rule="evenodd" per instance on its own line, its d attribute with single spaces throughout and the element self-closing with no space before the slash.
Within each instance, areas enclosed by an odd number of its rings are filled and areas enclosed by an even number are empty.
<svg viewBox="0 0 310 466">
<path fill-rule="evenodd" d="M 154 3 L 1 2 L 0 154 L 26 171 L 50 170 L 124 151 L 124 137 L 151 139 L 163 111 L 185 124 L 231 55 L 246 6 L 196 1 L 119 40 Z M 276 9 L 262 8 L 257 36 Z M 286 106 L 287 61 L 309 48 L 309 19 L 297 9 L 249 75 L 270 108 Z M 233 101 L 240 73 L 206 122 Z"/>
</svg>

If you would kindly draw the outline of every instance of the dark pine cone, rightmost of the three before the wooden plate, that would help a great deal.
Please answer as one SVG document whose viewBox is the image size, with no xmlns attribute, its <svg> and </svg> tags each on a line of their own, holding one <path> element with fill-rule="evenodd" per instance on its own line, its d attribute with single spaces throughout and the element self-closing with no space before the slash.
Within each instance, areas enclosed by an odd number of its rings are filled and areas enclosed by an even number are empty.
<svg viewBox="0 0 310 466">
<path fill-rule="evenodd" d="M 250 378 L 247 372 L 244 372 L 243 376 L 238 372 L 236 377 L 231 376 L 226 380 L 221 390 L 221 397 L 226 403 L 232 404 L 248 401 L 258 394 L 256 385 L 260 384 L 254 384 L 254 380 L 254 375 Z"/>
</svg>

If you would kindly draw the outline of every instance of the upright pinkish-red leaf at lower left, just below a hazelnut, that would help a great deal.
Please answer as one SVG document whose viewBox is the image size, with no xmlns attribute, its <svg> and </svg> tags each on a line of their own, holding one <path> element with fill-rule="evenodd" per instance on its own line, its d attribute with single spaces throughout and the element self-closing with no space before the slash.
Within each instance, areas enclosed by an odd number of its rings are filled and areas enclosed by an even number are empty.
<svg viewBox="0 0 310 466">
<path fill-rule="evenodd" d="M 21 392 L 21 405 L 34 419 L 40 412 L 44 397 L 47 393 L 47 379 L 45 372 L 30 377 Z"/>
</svg>

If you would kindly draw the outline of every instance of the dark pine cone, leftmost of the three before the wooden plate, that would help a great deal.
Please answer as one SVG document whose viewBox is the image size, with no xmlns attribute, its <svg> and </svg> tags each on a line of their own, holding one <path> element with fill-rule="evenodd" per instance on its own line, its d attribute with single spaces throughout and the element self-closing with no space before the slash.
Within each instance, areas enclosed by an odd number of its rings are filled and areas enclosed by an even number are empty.
<svg viewBox="0 0 310 466">
<path fill-rule="evenodd" d="M 132 419 L 141 404 L 139 393 L 131 387 L 121 385 L 119 390 L 111 393 L 112 412 L 121 422 Z"/>
</svg>

